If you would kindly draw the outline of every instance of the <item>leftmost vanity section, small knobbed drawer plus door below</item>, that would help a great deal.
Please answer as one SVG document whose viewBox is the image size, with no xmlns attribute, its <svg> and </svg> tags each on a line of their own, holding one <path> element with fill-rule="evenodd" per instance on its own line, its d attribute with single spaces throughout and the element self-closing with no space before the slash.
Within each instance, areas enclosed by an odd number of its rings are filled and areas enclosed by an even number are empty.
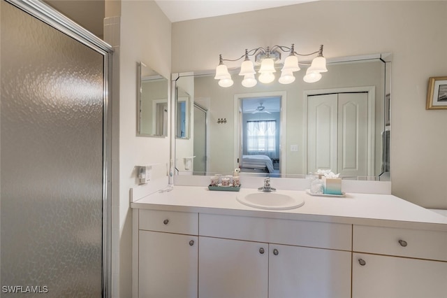
<svg viewBox="0 0 447 298">
<path fill-rule="evenodd" d="M 140 209 L 138 218 L 138 297 L 197 297 L 198 213 Z"/>
</svg>

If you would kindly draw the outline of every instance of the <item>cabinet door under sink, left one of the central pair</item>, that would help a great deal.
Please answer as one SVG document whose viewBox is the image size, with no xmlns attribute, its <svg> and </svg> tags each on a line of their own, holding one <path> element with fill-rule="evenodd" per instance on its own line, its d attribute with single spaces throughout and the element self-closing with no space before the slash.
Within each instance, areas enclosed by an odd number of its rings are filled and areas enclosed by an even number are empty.
<svg viewBox="0 0 447 298">
<path fill-rule="evenodd" d="M 208 237 L 199 242 L 199 297 L 267 297 L 268 244 Z"/>
</svg>

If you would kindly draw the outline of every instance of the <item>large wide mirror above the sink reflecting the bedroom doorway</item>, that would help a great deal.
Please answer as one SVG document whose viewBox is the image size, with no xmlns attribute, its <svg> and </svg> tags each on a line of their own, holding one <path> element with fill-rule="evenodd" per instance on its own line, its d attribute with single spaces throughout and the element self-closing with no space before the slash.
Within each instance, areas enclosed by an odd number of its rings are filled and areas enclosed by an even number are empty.
<svg viewBox="0 0 447 298">
<path fill-rule="evenodd" d="M 242 173 L 298 177 L 331 169 L 345 179 L 389 180 L 390 58 L 377 54 L 328 59 L 328 72 L 305 83 L 223 88 L 214 73 L 180 73 L 175 85 L 191 105 L 207 112 L 205 141 L 194 143 L 194 109 L 189 141 L 176 139 L 180 174 Z M 178 125 L 178 124 L 177 124 Z M 203 139 L 200 136 L 200 139 Z M 204 148 L 196 148 L 200 143 Z M 196 144 L 196 145 L 195 145 Z M 206 161 L 206 169 L 185 169 L 184 159 Z"/>
</svg>

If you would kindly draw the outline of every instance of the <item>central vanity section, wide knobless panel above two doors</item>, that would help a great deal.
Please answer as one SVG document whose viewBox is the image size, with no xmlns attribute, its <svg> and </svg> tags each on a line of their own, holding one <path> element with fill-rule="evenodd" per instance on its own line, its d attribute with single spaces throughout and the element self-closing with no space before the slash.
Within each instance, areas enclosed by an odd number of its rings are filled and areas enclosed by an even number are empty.
<svg viewBox="0 0 447 298">
<path fill-rule="evenodd" d="M 351 225 L 200 213 L 199 297 L 351 297 Z"/>
</svg>

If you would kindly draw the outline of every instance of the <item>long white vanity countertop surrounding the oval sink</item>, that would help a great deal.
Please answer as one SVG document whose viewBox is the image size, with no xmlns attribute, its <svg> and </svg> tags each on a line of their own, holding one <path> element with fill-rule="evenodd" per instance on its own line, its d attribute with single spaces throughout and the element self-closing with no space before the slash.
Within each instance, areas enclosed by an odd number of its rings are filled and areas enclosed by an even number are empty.
<svg viewBox="0 0 447 298">
<path fill-rule="evenodd" d="M 345 197 L 317 197 L 304 191 L 277 190 L 277 193 L 299 196 L 305 204 L 291 210 L 263 210 L 245 206 L 236 200 L 256 189 L 240 192 L 210 191 L 203 186 L 175 185 L 170 192 L 155 192 L 138 201 L 132 208 L 184 211 L 225 215 L 242 215 L 291 220 L 339 222 L 355 225 L 377 225 L 411 229 L 434 229 L 447 232 L 447 217 L 405 201 L 391 194 L 348 193 Z"/>
</svg>

